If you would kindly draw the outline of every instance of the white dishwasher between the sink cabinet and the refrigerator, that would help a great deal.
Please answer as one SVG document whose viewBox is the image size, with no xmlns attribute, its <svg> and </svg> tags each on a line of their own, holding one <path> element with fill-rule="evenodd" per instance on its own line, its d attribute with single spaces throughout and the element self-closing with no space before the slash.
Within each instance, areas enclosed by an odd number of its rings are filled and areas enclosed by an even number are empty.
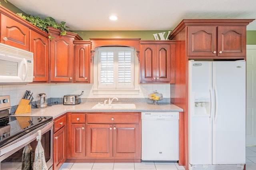
<svg viewBox="0 0 256 170">
<path fill-rule="evenodd" d="M 179 160 L 179 113 L 142 112 L 141 160 Z"/>
</svg>

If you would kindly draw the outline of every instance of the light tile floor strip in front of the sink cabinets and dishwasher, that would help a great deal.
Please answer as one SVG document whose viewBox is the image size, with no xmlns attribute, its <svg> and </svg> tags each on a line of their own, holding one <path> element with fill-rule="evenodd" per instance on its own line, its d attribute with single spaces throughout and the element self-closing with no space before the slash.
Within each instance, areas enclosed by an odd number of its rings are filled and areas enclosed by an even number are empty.
<svg viewBox="0 0 256 170">
<path fill-rule="evenodd" d="M 141 163 L 64 163 L 60 170 L 184 170 L 172 162 Z"/>
</svg>

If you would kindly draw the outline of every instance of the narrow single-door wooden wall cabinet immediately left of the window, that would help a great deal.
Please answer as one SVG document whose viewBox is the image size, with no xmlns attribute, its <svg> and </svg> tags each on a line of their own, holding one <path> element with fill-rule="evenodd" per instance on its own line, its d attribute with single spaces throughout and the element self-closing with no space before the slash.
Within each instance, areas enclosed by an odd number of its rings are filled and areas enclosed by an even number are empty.
<svg viewBox="0 0 256 170">
<path fill-rule="evenodd" d="M 74 42 L 74 83 L 90 83 L 90 42 Z"/>
</svg>

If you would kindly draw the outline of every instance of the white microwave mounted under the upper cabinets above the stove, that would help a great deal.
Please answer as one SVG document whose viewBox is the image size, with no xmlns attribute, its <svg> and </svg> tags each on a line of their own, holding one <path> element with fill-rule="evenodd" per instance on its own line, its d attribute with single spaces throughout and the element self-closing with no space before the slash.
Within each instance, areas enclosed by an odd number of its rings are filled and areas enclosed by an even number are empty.
<svg viewBox="0 0 256 170">
<path fill-rule="evenodd" d="M 0 85 L 28 84 L 33 71 L 33 53 L 0 43 Z"/>
</svg>

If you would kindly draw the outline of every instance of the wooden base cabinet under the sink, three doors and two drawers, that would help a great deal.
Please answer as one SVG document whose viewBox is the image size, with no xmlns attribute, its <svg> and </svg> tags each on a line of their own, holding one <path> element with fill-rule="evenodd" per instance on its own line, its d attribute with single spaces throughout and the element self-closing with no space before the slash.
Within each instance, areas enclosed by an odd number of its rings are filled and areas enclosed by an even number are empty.
<svg viewBox="0 0 256 170">
<path fill-rule="evenodd" d="M 67 162 L 140 162 L 140 113 L 67 113 Z"/>
</svg>

